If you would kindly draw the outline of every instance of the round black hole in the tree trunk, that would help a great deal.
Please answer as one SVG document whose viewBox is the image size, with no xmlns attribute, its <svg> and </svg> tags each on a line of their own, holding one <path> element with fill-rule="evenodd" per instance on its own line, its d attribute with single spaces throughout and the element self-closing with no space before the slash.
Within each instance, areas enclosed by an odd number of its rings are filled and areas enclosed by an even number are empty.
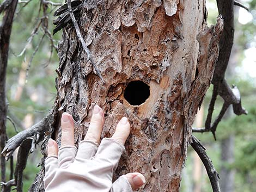
<svg viewBox="0 0 256 192">
<path fill-rule="evenodd" d="M 124 98 L 132 105 L 139 106 L 149 98 L 149 85 L 141 80 L 130 82 L 124 90 Z"/>
</svg>

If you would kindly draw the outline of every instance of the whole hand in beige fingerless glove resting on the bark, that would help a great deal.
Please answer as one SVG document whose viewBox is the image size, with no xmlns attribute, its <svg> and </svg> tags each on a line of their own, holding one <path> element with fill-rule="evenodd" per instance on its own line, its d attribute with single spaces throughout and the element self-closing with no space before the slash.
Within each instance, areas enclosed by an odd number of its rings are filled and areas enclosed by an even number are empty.
<svg viewBox="0 0 256 192">
<path fill-rule="evenodd" d="M 125 151 L 130 123 L 123 117 L 112 138 L 104 138 L 98 145 L 104 121 L 103 110 L 95 106 L 86 137 L 77 150 L 74 120 L 70 114 L 63 113 L 60 149 L 56 141 L 50 139 L 48 142 L 46 192 L 131 192 L 145 183 L 144 176 L 138 172 L 123 175 L 112 183 L 113 172 Z"/>
</svg>

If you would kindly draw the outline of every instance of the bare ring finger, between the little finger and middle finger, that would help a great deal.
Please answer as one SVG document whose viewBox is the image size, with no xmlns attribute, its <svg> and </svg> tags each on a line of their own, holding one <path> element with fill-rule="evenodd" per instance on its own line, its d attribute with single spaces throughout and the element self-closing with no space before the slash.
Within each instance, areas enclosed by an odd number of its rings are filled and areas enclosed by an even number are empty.
<svg viewBox="0 0 256 192">
<path fill-rule="evenodd" d="M 74 141 L 74 120 L 68 113 L 62 114 L 62 147 L 75 146 Z"/>
</svg>

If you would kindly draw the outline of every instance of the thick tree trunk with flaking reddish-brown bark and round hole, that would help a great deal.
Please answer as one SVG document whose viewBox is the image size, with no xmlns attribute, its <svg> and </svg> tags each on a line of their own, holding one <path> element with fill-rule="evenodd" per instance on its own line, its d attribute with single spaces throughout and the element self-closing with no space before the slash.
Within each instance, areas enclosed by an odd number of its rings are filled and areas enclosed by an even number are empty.
<svg viewBox="0 0 256 192">
<path fill-rule="evenodd" d="M 179 191 L 191 126 L 211 83 L 222 32 L 220 18 L 211 28 L 205 19 L 203 0 L 84 1 L 78 23 L 104 82 L 74 27 L 65 28 L 53 138 L 59 142 L 58 119 L 68 112 L 78 145 L 98 104 L 106 119 L 102 138 L 111 137 L 122 116 L 132 126 L 114 179 L 139 171 L 147 180 L 139 191 Z M 32 191 L 41 190 L 42 177 L 43 169 Z"/>
</svg>

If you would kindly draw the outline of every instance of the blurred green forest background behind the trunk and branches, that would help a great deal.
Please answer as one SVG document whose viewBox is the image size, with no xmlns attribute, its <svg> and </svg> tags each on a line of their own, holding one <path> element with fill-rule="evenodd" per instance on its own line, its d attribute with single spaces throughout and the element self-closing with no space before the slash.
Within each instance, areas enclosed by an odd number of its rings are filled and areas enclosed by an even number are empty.
<svg viewBox="0 0 256 192">
<path fill-rule="evenodd" d="M 0 3 L 3 1 L 0 0 Z M 8 137 L 13 137 L 42 117 L 51 109 L 55 88 L 55 69 L 58 67 L 56 49 L 62 32 L 51 40 L 38 30 L 31 36 L 35 26 L 41 21 L 39 1 L 20 1 L 14 18 L 10 39 L 10 54 L 7 69 L 8 96 Z M 63 3 L 63 1 L 53 1 Z M 243 0 L 249 8 L 235 9 L 235 39 L 226 76 L 229 84 L 235 84 L 242 96 L 242 106 L 248 115 L 236 116 L 230 109 L 218 125 L 217 141 L 211 133 L 194 133 L 207 148 L 206 152 L 220 174 L 222 192 L 256 191 L 256 0 Z M 218 15 L 216 1 L 206 0 L 208 24 L 215 24 Z M 48 13 L 48 29 L 52 33 L 53 12 L 58 8 L 51 5 Z M 2 20 L 2 16 L 0 17 Z M 198 112 L 195 127 L 202 127 L 208 110 L 211 90 L 205 97 L 204 104 Z M 214 112 L 217 116 L 222 107 L 222 98 L 218 98 Z M 13 122 L 11 122 L 13 121 Z M 16 131 L 13 123 L 16 125 Z M 41 159 L 36 150 L 29 156 L 24 172 L 23 191 L 27 191 L 39 168 Z M 14 159 L 15 162 L 15 159 Z M 7 176 L 10 170 L 7 170 Z M 212 191 L 204 166 L 192 147 L 182 174 L 181 192 Z"/>
</svg>

